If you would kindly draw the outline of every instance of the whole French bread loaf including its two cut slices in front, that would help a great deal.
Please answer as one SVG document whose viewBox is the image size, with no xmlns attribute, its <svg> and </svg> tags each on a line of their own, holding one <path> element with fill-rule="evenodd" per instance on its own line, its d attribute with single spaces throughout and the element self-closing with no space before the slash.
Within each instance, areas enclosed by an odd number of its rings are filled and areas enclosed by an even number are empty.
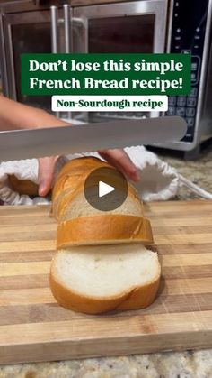
<svg viewBox="0 0 212 378">
<path fill-rule="evenodd" d="M 84 197 L 85 180 L 102 167 L 116 171 L 93 157 L 69 161 L 52 192 L 58 227 L 50 288 L 66 309 L 91 314 L 145 308 L 155 300 L 161 274 L 157 254 L 145 246 L 153 235 L 136 189 L 128 183 L 126 200 L 111 211 Z"/>
</svg>

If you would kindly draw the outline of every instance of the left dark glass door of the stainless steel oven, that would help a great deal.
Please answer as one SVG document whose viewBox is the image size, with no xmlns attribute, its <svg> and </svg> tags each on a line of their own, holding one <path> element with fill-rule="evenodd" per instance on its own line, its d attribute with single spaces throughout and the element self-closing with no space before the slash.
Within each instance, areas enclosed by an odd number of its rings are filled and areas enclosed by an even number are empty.
<svg viewBox="0 0 212 378">
<path fill-rule="evenodd" d="M 0 4 L 0 67 L 5 96 L 50 110 L 49 97 L 22 96 L 20 59 L 24 52 L 53 52 L 49 6 L 49 2 L 32 0 Z M 64 15 L 61 8 L 57 13 L 59 17 Z M 57 34 L 61 41 L 63 32 L 63 28 L 58 26 Z"/>
</svg>

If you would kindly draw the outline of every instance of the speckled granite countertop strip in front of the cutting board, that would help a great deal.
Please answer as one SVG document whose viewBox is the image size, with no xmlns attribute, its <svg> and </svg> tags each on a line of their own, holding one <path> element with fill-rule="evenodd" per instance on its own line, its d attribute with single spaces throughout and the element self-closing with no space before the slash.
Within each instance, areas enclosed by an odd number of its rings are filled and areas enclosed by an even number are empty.
<svg viewBox="0 0 212 378">
<path fill-rule="evenodd" d="M 1 378 L 211 378 L 212 351 L 88 358 L 0 368 Z"/>
</svg>

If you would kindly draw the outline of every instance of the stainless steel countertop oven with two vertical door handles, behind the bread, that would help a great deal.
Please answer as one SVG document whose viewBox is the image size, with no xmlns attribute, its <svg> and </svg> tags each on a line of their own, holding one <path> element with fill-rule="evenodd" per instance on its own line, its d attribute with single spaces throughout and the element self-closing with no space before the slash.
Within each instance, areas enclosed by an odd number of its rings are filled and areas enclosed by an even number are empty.
<svg viewBox="0 0 212 378">
<path fill-rule="evenodd" d="M 72 0 L 71 5 L 21 0 L 5 1 L 0 12 L 0 68 L 6 96 L 50 110 L 49 97 L 22 96 L 23 52 L 190 52 L 190 96 L 169 97 L 166 113 L 184 117 L 187 134 L 179 143 L 160 146 L 197 151 L 212 136 L 212 0 L 104 0 L 103 4 Z M 155 115 L 74 112 L 72 117 L 99 122 Z"/>
</svg>

